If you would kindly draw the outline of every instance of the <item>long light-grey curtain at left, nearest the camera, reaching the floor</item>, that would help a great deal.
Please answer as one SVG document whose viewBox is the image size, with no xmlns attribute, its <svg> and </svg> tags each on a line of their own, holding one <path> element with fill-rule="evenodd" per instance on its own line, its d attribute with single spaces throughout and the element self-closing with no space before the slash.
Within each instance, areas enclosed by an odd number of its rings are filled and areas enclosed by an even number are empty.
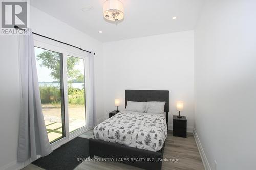
<svg viewBox="0 0 256 170">
<path fill-rule="evenodd" d="M 36 160 L 37 155 L 52 152 L 42 115 L 32 32 L 19 36 L 19 61 L 22 84 L 22 108 L 17 161 Z"/>
</svg>

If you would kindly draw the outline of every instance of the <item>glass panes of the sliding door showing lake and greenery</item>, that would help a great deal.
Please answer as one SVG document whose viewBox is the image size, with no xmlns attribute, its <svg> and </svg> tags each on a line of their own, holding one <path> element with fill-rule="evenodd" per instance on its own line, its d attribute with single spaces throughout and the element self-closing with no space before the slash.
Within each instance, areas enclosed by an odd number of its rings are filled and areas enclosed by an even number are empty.
<svg viewBox="0 0 256 170">
<path fill-rule="evenodd" d="M 65 137 L 65 123 L 69 125 L 69 133 L 86 126 L 84 59 L 38 47 L 35 47 L 35 56 L 42 112 L 52 143 Z M 67 65 L 63 65 L 63 57 Z M 67 67 L 67 88 L 63 88 L 62 67 Z M 64 109 L 63 90 L 68 90 L 68 110 Z M 64 116 L 65 112 L 68 117 Z"/>
</svg>

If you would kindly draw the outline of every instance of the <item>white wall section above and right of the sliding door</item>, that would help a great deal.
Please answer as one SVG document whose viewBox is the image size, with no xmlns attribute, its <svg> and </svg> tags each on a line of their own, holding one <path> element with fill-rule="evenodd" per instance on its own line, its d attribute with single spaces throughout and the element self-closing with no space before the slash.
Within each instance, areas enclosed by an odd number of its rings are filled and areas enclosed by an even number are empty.
<svg viewBox="0 0 256 170">
<path fill-rule="evenodd" d="M 31 28 L 38 34 L 96 53 L 94 55 L 96 113 L 97 119 L 101 120 L 103 114 L 103 43 L 34 7 L 31 7 Z"/>
</svg>

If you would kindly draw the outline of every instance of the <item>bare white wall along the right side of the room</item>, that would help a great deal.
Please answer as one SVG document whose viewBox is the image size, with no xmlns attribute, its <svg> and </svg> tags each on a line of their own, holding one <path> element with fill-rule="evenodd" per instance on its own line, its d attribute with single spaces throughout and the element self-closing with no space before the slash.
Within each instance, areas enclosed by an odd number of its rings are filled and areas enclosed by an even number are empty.
<svg viewBox="0 0 256 170">
<path fill-rule="evenodd" d="M 207 1 L 195 29 L 195 129 L 211 169 L 255 169 L 256 2 Z"/>
</svg>

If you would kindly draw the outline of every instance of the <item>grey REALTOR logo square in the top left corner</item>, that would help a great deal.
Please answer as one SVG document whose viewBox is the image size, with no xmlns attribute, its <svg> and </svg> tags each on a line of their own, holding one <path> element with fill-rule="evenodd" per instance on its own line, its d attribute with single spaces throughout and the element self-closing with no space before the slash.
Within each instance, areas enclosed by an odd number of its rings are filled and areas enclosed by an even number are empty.
<svg viewBox="0 0 256 170">
<path fill-rule="evenodd" d="M 15 25 L 23 29 L 16 30 Z M 28 1 L 1 1 L 1 34 L 24 35 L 27 27 Z"/>
</svg>

